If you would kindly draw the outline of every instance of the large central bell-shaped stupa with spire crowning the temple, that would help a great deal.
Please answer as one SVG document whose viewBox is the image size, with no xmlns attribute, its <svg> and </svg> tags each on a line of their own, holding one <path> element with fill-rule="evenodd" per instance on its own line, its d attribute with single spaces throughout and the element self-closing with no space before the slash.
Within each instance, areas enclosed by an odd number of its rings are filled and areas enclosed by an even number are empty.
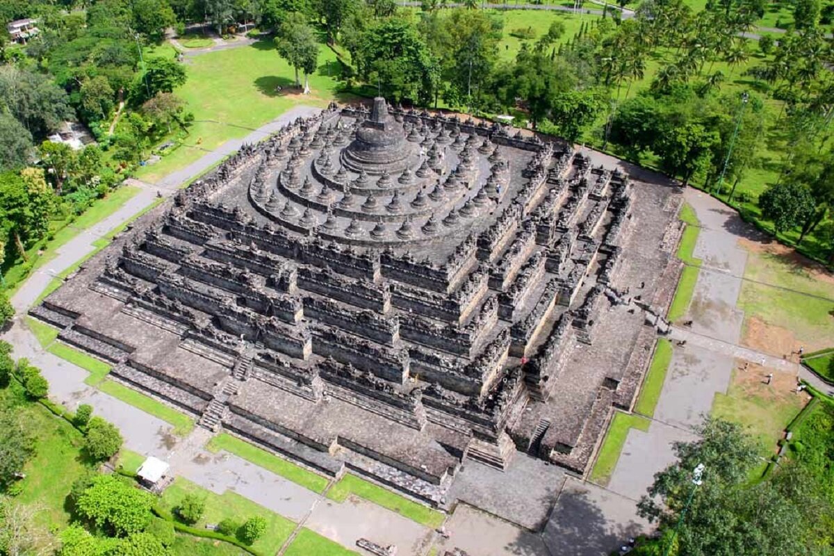
<svg viewBox="0 0 834 556">
<path fill-rule="evenodd" d="M 418 145 L 405 140 L 403 124 L 388 113 L 384 98 L 374 98 L 370 118 L 342 153 L 342 163 L 354 172 L 372 175 L 399 173 L 420 163 Z"/>
</svg>

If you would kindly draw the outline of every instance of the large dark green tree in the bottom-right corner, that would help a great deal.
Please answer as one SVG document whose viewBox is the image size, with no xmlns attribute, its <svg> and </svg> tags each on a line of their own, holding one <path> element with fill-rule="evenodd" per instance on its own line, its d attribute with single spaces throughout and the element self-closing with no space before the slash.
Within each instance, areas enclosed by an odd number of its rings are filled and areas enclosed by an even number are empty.
<svg viewBox="0 0 834 556">
<path fill-rule="evenodd" d="M 698 433 L 694 442 L 674 444 L 676 463 L 656 474 L 638 504 L 643 517 L 659 522 L 661 543 L 671 543 L 676 530 L 673 553 L 687 556 L 808 553 L 801 501 L 773 481 L 748 484 L 758 463 L 754 440 L 720 419 L 707 418 Z M 692 471 L 699 464 L 704 472 L 696 485 Z"/>
</svg>

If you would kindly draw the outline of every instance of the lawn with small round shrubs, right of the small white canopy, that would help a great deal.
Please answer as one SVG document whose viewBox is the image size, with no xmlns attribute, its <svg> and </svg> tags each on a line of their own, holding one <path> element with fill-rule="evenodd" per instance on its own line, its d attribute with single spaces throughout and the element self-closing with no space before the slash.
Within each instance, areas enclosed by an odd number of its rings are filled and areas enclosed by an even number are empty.
<svg viewBox="0 0 834 556">
<path fill-rule="evenodd" d="M 171 486 L 162 495 L 163 506 L 173 511 L 178 503 L 188 493 L 196 493 L 205 498 L 205 513 L 194 527 L 203 528 L 206 523 L 219 523 L 224 518 L 231 518 L 239 523 L 256 515 L 267 521 L 266 533 L 259 538 L 252 548 L 264 554 L 278 553 L 279 548 L 289 538 L 295 528 L 295 523 L 274 513 L 249 498 L 227 490 L 223 494 L 215 494 L 184 478 L 174 479 Z M 311 553 L 312 554 L 312 553 Z"/>
</svg>

